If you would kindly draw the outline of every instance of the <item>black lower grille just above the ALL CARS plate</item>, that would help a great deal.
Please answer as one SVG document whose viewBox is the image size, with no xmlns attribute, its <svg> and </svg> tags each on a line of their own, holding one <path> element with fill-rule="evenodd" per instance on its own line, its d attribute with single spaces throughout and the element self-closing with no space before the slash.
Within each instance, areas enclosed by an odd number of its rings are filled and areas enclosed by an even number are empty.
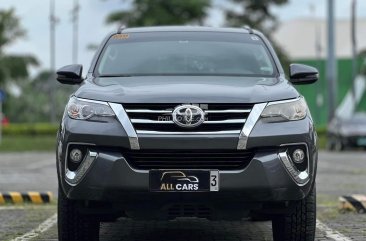
<svg viewBox="0 0 366 241">
<path fill-rule="evenodd" d="M 245 168 L 254 152 L 239 150 L 124 150 L 123 156 L 135 169 L 211 169 Z"/>
</svg>

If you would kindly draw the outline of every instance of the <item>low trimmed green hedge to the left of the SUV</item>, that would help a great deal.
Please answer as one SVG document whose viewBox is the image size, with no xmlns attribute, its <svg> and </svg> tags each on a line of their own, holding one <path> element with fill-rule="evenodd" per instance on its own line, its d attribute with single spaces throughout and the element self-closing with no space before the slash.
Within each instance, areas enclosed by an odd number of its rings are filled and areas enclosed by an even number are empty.
<svg viewBox="0 0 366 241">
<path fill-rule="evenodd" d="M 57 124 L 51 123 L 22 123 L 9 124 L 3 127 L 4 136 L 19 136 L 19 135 L 56 135 L 58 130 Z"/>
</svg>

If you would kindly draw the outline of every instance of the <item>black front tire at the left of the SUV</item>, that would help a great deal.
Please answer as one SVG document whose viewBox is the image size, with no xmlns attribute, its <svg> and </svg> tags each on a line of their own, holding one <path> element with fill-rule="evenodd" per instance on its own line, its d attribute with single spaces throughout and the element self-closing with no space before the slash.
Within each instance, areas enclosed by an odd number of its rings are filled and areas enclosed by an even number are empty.
<svg viewBox="0 0 366 241">
<path fill-rule="evenodd" d="M 60 241 L 98 241 L 99 221 L 79 212 L 77 201 L 58 191 L 58 237 Z"/>
</svg>

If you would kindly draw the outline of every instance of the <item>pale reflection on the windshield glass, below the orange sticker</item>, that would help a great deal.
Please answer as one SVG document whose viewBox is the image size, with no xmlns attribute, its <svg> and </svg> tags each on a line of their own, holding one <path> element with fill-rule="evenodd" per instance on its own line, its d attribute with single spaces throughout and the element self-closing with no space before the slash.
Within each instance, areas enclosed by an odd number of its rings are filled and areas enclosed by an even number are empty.
<svg viewBox="0 0 366 241">
<path fill-rule="evenodd" d="M 115 42 L 98 66 L 100 76 L 230 75 L 273 76 L 274 67 L 259 43 L 216 41 Z"/>
</svg>

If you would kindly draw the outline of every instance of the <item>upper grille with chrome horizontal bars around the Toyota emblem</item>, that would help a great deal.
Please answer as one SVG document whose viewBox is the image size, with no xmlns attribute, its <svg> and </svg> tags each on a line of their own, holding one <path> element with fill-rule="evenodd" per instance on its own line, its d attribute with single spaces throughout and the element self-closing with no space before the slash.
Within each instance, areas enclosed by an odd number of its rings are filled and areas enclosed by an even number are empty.
<svg viewBox="0 0 366 241">
<path fill-rule="evenodd" d="M 123 107 L 137 134 L 230 133 L 239 134 L 253 108 L 252 104 L 200 104 L 205 121 L 194 128 L 183 128 L 173 122 L 178 104 L 124 104 Z"/>
</svg>

